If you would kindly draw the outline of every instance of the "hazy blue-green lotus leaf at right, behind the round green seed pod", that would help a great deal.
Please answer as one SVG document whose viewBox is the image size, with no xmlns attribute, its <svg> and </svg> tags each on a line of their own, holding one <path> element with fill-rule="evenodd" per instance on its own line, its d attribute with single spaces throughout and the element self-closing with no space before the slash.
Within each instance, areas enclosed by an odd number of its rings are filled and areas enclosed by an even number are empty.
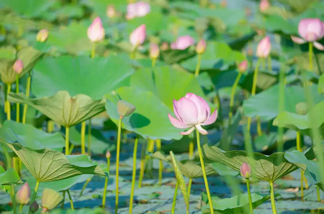
<svg viewBox="0 0 324 214">
<path fill-rule="evenodd" d="M 317 85 L 310 86 L 314 104 L 323 101 L 324 95 L 318 94 Z M 275 85 L 255 96 L 243 101 L 243 111 L 246 116 L 260 116 L 263 120 L 270 120 L 279 114 L 279 85 Z M 307 102 L 304 89 L 300 86 L 285 87 L 284 111 L 296 113 L 295 106 L 298 102 Z"/>
</svg>

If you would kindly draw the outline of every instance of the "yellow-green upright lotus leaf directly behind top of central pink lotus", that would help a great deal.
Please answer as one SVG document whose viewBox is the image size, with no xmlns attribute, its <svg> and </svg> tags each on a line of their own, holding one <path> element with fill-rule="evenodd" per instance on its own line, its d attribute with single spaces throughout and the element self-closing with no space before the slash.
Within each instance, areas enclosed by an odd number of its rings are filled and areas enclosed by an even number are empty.
<svg viewBox="0 0 324 214">
<path fill-rule="evenodd" d="M 188 92 L 207 100 L 194 75 L 168 66 L 140 68 L 131 77 L 131 86 L 153 92 L 170 109 L 173 99 L 179 100 Z"/>
</svg>

